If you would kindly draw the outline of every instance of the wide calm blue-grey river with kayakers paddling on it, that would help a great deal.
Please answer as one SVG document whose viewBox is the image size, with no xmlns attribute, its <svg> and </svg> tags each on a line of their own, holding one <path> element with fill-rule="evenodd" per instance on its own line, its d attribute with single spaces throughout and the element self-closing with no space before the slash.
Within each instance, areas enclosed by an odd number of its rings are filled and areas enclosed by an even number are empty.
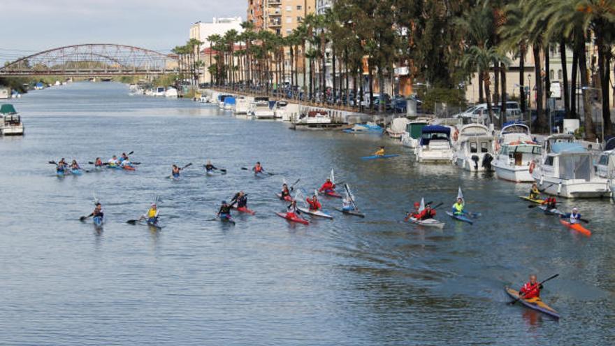
<svg viewBox="0 0 615 346">
<path fill-rule="evenodd" d="M 215 106 L 129 96 L 78 82 L 13 100 L 23 138 L 0 138 L 3 345 L 606 345 L 615 343 L 614 206 L 562 201 L 591 219 L 587 238 L 517 196 L 528 185 L 452 166 L 419 166 L 372 135 L 302 132 Z M 361 161 L 378 145 L 402 154 Z M 133 173 L 57 178 L 50 160 L 134 151 Z M 206 159 L 227 168 L 203 174 Z M 261 161 L 269 178 L 240 167 Z M 181 180 L 171 164 L 193 166 Z M 89 166 L 89 165 L 85 165 Z M 289 224 L 274 212 L 282 177 L 311 191 L 335 168 L 365 219 Z M 461 186 L 474 225 L 444 210 Z M 256 215 L 209 221 L 243 190 Z M 103 230 L 78 219 L 96 196 Z M 126 224 L 155 196 L 164 229 Z M 444 202 L 442 230 L 399 222 L 414 201 Z M 610 226 L 609 226 L 610 225 Z M 509 306 L 529 273 L 559 322 Z"/>
</svg>

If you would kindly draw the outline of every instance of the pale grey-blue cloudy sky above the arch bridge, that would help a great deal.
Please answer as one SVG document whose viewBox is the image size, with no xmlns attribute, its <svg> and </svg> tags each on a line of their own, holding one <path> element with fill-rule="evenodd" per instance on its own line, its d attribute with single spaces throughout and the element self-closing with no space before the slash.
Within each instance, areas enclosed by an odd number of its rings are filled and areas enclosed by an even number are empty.
<svg viewBox="0 0 615 346">
<path fill-rule="evenodd" d="M 118 43 L 168 53 L 190 25 L 246 17 L 248 0 L 0 0 L 0 63 L 64 45 Z"/>
</svg>

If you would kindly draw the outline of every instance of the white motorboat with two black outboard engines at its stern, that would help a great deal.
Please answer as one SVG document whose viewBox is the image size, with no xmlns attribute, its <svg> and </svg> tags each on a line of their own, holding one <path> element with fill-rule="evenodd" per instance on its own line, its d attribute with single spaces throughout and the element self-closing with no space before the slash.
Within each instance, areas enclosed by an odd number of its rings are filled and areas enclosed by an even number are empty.
<svg viewBox="0 0 615 346">
<path fill-rule="evenodd" d="M 453 163 L 466 171 L 491 171 L 493 134 L 483 124 L 467 124 L 458 134 Z"/>
</svg>

